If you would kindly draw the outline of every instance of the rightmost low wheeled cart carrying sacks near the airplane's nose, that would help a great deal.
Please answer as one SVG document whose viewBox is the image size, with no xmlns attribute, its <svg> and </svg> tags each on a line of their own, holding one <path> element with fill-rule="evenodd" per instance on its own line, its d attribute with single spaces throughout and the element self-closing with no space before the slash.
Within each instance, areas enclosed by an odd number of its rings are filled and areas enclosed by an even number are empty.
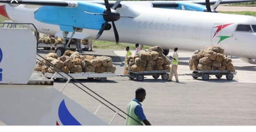
<svg viewBox="0 0 256 132">
<path fill-rule="evenodd" d="M 198 77 L 201 77 L 202 80 L 209 80 L 210 75 L 215 75 L 216 78 L 222 78 L 223 75 L 226 76 L 227 80 L 233 80 L 234 75 L 237 75 L 237 71 L 235 72 L 230 72 L 227 70 L 205 70 L 205 71 L 200 71 L 200 70 L 194 70 L 192 74 L 193 78 L 197 79 Z"/>
</svg>

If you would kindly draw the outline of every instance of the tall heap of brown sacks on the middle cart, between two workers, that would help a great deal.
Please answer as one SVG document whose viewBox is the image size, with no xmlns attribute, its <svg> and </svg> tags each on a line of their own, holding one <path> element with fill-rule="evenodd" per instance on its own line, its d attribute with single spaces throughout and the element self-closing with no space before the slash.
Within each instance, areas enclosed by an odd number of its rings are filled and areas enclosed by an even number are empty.
<svg viewBox="0 0 256 132">
<path fill-rule="evenodd" d="M 127 57 L 126 69 L 130 71 L 153 71 L 153 70 L 168 70 L 170 71 L 171 61 L 163 54 L 163 49 L 160 46 L 149 48 L 146 52 L 141 50 L 135 56 Z"/>
</svg>

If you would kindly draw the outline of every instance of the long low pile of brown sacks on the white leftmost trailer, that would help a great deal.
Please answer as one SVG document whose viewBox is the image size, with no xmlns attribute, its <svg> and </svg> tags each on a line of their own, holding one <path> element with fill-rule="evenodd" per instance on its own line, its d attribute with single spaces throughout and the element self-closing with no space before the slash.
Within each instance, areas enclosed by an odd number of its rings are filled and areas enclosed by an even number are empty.
<svg viewBox="0 0 256 132">
<path fill-rule="evenodd" d="M 94 55 L 81 55 L 79 52 L 73 52 L 66 50 L 63 56 L 58 57 L 56 53 L 49 53 L 45 59 L 51 62 L 53 65 L 61 68 L 66 73 L 81 73 L 81 72 L 111 72 L 115 73 L 116 67 L 113 66 L 112 59 L 108 56 Z M 51 66 L 44 59 L 41 60 L 47 66 L 50 66 L 54 70 L 61 72 L 58 68 Z M 39 62 L 35 67 L 35 71 L 41 71 L 42 73 L 55 73 L 54 70 L 48 68 L 43 63 Z"/>
</svg>

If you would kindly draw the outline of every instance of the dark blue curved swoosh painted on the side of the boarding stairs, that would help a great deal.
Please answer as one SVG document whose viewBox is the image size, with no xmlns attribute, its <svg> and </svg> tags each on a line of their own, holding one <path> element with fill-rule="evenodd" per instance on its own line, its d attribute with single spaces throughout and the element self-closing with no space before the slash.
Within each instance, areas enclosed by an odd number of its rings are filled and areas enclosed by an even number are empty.
<svg viewBox="0 0 256 132">
<path fill-rule="evenodd" d="M 69 112 L 64 99 L 61 101 L 59 104 L 59 110 L 58 110 L 58 115 L 61 123 L 63 125 L 68 125 L 68 126 L 73 126 L 73 125 L 81 125 L 75 117 Z"/>
</svg>

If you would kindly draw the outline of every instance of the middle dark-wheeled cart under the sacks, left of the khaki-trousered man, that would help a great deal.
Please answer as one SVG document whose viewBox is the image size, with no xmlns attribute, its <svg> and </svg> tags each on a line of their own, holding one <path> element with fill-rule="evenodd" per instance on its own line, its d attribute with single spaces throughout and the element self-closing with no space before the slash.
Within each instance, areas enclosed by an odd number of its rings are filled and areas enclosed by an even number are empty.
<svg viewBox="0 0 256 132">
<path fill-rule="evenodd" d="M 159 70 L 159 71 L 138 71 L 133 72 L 129 71 L 129 78 L 134 79 L 136 78 L 137 81 L 143 81 L 144 76 L 152 76 L 153 78 L 157 79 L 161 75 L 162 80 L 168 80 L 169 74 L 167 70 Z"/>
</svg>

